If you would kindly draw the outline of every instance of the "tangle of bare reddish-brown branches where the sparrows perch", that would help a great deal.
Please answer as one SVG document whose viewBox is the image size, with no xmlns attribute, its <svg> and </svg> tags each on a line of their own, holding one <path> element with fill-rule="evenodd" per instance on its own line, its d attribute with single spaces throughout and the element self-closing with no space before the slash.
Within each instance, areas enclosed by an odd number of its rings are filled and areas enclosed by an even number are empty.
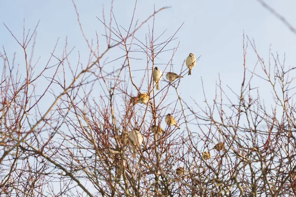
<svg viewBox="0 0 296 197">
<path fill-rule="evenodd" d="M 105 49 L 100 33 L 95 41 L 86 37 L 74 8 L 90 50 L 87 62 L 68 49 L 66 39 L 64 53 L 56 54 L 56 44 L 47 64 L 36 71 L 38 24 L 27 33 L 24 23 L 22 40 L 5 26 L 25 58 L 18 64 L 19 54 L 8 58 L 5 46 L 0 52 L 1 195 L 296 195 L 296 67 L 285 66 L 285 59 L 271 51 L 265 62 L 255 41 L 244 35 L 240 91 L 219 80 L 216 97 L 204 94 L 205 104 L 196 103 L 179 94 L 182 78 L 163 79 L 159 91 L 152 78 L 156 66 L 165 78 L 178 55 L 176 34 L 182 25 L 168 37 L 154 26 L 157 14 L 168 7 L 154 9 L 139 22 L 135 4 L 128 28 L 117 23 L 112 9 L 109 21 L 103 13 L 98 21 L 105 28 Z M 145 40 L 140 39 L 138 30 L 147 26 Z M 255 52 L 256 65 L 247 66 L 248 50 Z M 118 55 L 109 60 L 111 51 Z M 184 64 L 177 74 L 186 77 Z M 271 106 L 260 98 L 262 87 L 272 93 Z M 181 130 L 160 128 L 167 114 Z"/>
</svg>

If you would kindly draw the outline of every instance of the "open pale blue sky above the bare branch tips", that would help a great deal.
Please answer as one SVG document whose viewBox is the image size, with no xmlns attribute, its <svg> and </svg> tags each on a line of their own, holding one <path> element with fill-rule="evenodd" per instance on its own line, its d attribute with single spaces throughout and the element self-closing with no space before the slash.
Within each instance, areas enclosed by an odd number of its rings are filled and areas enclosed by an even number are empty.
<svg viewBox="0 0 296 197">
<path fill-rule="evenodd" d="M 133 0 L 114 0 L 113 12 L 117 17 L 117 22 L 123 27 L 127 28 L 129 25 L 134 2 Z M 96 16 L 102 18 L 103 4 L 107 15 L 109 15 L 110 0 L 83 0 L 75 3 L 87 36 L 95 38 L 95 31 L 103 34 L 105 31 Z M 269 0 L 268 3 L 292 25 L 296 25 L 294 20 L 296 18 L 294 10 L 296 2 L 294 0 Z M 239 83 L 234 84 L 234 82 L 237 82 L 241 77 L 243 31 L 250 38 L 255 39 L 257 48 L 264 59 L 268 58 L 268 48 L 271 44 L 273 52 L 286 53 L 287 64 L 295 64 L 296 35 L 256 0 L 211 2 L 139 0 L 135 18 L 140 21 L 145 19 L 152 13 L 154 4 L 156 9 L 162 6 L 172 6 L 156 16 L 156 34 L 168 29 L 166 36 L 169 36 L 185 22 L 177 34 L 177 41 L 181 43 L 174 64 L 181 65 L 190 52 L 196 56 L 201 55 L 200 61 L 193 70 L 195 82 L 200 82 L 200 76 L 203 76 L 205 84 L 213 88 L 218 73 L 220 73 L 225 84 L 240 85 Z M 21 37 L 24 18 L 27 29 L 33 29 L 37 21 L 40 20 L 37 29 L 36 57 L 41 56 L 45 61 L 58 37 L 60 37 L 61 43 L 58 50 L 61 51 L 66 36 L 69 39 L 69 46 L 75 46 L 75 50 L 79 50 L 83 54 L 85 41 L 81 36 L 71 0 L 2 0 L 0 45 L 3 45 L 6 51 L 15 51 L 17 44 L 2 23 L 5 23 L 17 37 Z M 147 32 L 146 26 L 139 31 L 138 35 L 141 37 L 141 33 L 143 33 L 144 38 L 144 33 Z M 177 41 L 174 43 L 175 45 L 177 45 Z M 18 50 L 20 48 L 16 48 L 16 51 Z M 85 55 L 88 55 L 88 52 L 86 51 Z M 249 54 L 251 54 L 251 50 Z M 252 63 L 251 58 L 248 62 Z M 250 66 L 252 67 L 254 64 L 250 64 Z M 185 77 L 181 86 L 191 81 L 193 76 Z M 193 95 L 191 96 L 194 98 Z"/>
</svg>

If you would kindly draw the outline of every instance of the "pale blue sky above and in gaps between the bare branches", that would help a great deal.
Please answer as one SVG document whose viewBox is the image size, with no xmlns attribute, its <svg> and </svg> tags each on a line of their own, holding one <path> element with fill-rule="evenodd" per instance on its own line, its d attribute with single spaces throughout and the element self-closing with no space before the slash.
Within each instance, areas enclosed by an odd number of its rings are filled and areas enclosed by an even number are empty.
<svg viewBox="0 0 296 197">
<path fill-rule="evenodd" d="M 83 0 L 74 1 L 81 20 L 81 24 L 86 36 L 89 39 L 96 38 L 96 31 L 99 34 L 101 51 L 106 47 L 105 38 L 101 34 L 105 33 L 104 26 L 97 19 L 102 19 L 103 5 L 106 17 L 109 20 L 111 1 L 110 0 Z M 268 0 L 268 4 L 296 27 L 296 1 L 295 0 Z M 3 54 L 3 47 L 10 60 L 16 52 L 16 62 L 21 66 L 23 62 L 23 52 L 18 43 L 7 31 L 5 24 L 14 35 L 22 39 L 23 23 L 25 19 L 26 30 L 34 30 L 38 21 L 36 46 L 33 62 L 36 62 L 37 69 L 42 69 L 47 63 L 57 40 L 59 39 L 56 54 L 61 57 L 63 53 L 66 37 L 69 49 L 74 48 L 70 59 L 73 64 L 77 61 L 77 54 L 80 53 L 81 63 L 86 65 L 89 57 L 89 49 L 82 36 L 77 22 L 72 0 L 1 0 L 0 1 L 0 52 Z M 134 0 L 114 0 L 113 13 L 116 21 L 124 28 L 128 28 L 135 6 Z M 164 6 L 170 8 L 160 12 L 155 17 L 155 35 L 163 35 L 163 40 L 174 34 L 184 23 L 176 34 L 170 47 L 177 46 L 178 51 L 173 59 L 173 69 L 180 72 L 182 64 L 189 53 L 194 53 L 200 60 L 192 69 L 192 75 L 181 80 L 179 92 L 185 98 L 189 107 L 198 111 L 192 101 L 204 106 L 204 97 L 201 78 L 205 88 L 205 94 L 211 101 L 215 97 L 216 83 L 219 77 L 222 80 L 222 87 L 230 98 L 235 96 L 227 88 L 231 87 L 239 93 L 243 76 L 243 34 L 251 40 L 254 39 L 260 56 L 268 61 L 269 48 L 271 52 L 286 56 L 286 66 L 296 66 L 296 34 L 292 33 L 280 20 L 261 6 L 257 0 L 139 0 L 135 13 L 135 19 L 139 22 L 145 20 L 153 13 L 153 8 L 159 9 Z M 136 36 L 145 42 L 146 33 L 151 27 L 150 20 Z M 29 51 L 30 52 L 30 51 Z M 108 59 L 120 56 L 117 53 L 122 51 L 111 51 Z M 134 57 L 139 54 L 135 53 Z M 132 63 L 145 69 L 147 62 L 145 57 L 139 55 L 143 60 L 132 61 Z M 171 58 L 171 53 L 164 53 L 157 60 L 157 64 L 167 64 Z M 114 58 L 113 58 L 114 59 Z M 57 61 L 53 61 L 56 63 Z M 248 47 L 247 67 L 253 70 L 257 63 L 257 56 Z M 116 68 L 117 62 L 110 66 L 110 71 Z M 0 66 L 2 66 L 0 59 Z M 137 68 L 138 68 L 137 67 Z M 159 66 L 161 69 L 162 66 Z M 22 67 L 21 69 L 24 69 Z M 259 72 L 260 73 L 260 72 Z M 50 74 L 49 74 L 50 75 Z M 138 83 L 139 84 L 139 83 Z M 161 87 L 166 85 L 161 82 Z M 254 78 L 254 86 L 259 87 L 262 99 L 268 104 L 272 103 L 270 86 L 258 77 Z M 39 86 L 40 90 L 43 88 Z M 100 87 L 98 93 L 102 93 Z M 171 92 L 173 94 L 173 91 Z M 136 94 L 133 90 L 133 94 Z M 44 108 L 46 109 L 46 108 Z M 183 128 L 184 129 L 184 128 Z"/>
</svg>

